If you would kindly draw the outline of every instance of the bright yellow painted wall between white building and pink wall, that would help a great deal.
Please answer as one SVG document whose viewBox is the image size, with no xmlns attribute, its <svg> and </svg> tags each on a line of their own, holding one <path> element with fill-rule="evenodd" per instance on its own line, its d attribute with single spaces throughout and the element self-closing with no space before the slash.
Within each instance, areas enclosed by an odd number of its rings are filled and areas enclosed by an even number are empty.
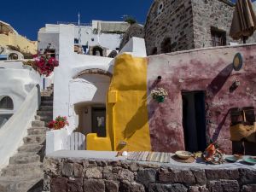
<svg viewBox="0 0 256 192">
<path fill-rule="evenodd" d="M 146 58 L 119 55 L 107 96 L 107 143 L 87 136 L 89 150 L 150 151 Z M 93 136 L 94 135 L 94 136 Z M 119 143 L 127 143 L 122 146 Z"/>
</svg>

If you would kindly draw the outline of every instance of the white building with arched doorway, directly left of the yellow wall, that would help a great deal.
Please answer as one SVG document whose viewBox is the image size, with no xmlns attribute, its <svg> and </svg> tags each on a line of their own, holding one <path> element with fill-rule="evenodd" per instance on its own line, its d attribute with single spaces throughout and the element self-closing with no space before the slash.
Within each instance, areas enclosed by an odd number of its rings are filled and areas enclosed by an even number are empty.
<svg viewBox="0 0 256 192">
<path fill-rule="evenodd" d="M 58 28 L 59 67 L 55 68 L 53 116 L 67 116 L 69 126 L 67 131 L 62 129 L 47 133 L 47 154 L 60 150 L 63 139 L 73 131 L 79 131 L 85 136 L 91 132 L 97 132 L 100 136 L 106 134 L 106 127 L 102 127 L 103 131 L 98 131 L 100 129 L 97 126 L 99 119 L 106 125 L 106 98 L 115 60 L 99 55 L 74 53 L 76 26 L 60 25 Z M 123 52 L 146 56 L 144 40 L 132 38 L 119 54 Z"/>
</svg>

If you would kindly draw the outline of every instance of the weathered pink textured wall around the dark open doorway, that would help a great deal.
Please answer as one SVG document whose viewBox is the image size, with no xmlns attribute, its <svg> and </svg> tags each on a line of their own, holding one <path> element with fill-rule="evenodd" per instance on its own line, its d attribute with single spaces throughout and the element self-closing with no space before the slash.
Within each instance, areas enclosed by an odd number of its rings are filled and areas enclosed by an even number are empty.
<svg viewBox="0 0 256 192">
<path fill-rule="evenodd" d="M 237 52 L 244 65 L 239 72 L 231 64 Z M 162 77 L 160 82 L 156 79 Z M 230 92 L 238 79 L 241 85 Z M 148 95 L 154 87 L 164 87 L 169 96 L 163 103 L 148 96 L 151 144 L 154 151 L 184 149 L 182 91 L 205 90 L 207 139 L 217 139 L 231 153 L 230 108 L 256 107 L 256 45 L 197 49 L 148 57 Z"/>
</svg>

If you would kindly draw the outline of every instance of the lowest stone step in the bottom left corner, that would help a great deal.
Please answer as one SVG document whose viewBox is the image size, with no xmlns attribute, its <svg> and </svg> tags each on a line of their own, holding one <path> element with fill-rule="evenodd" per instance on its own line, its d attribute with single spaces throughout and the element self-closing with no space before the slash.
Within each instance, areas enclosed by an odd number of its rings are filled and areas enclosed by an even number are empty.
<svg viewBox="0 0 256 192">
<path fill-rule="evenodd" d="M 13 177 L 0 177 L 1 192 L 41 192 L 43 190 L 43 177 L 32 177 L 29 180 L 16 180 Z M 1 190 L 1 186 L 3 189 Z"/>
</svg>

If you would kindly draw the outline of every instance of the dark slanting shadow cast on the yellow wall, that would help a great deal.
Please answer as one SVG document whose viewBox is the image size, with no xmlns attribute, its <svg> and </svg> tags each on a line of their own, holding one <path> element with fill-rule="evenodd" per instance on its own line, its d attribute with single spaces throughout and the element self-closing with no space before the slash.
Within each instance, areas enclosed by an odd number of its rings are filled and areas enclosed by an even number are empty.
<svg viewBox="0 0 256 192">
<path fill-rule="evenodd" d="M 148 114 L 147 108 L 147 94 L 143 96 L 143 104 L 137 109 L 131 120 L 125 126 L 125 130 L 122 132 L 125 138 L 131 138 L 136 131 L 143 128 L 143 126 L 148 123 L 148 119 L 142 119 L 143 114 Z"/>
</svg>

